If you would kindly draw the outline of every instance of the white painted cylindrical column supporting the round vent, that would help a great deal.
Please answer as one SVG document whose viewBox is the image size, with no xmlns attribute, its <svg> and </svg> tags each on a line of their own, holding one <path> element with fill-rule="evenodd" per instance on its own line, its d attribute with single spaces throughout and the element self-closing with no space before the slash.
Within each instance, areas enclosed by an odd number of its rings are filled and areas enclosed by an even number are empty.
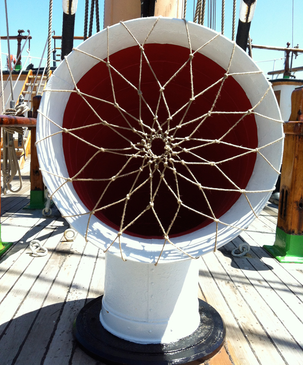
<svg viewBox="0 0 303 365">
<path fill-rule="evenodd" d="M 100 321 L 114 335 L 137 343 L 171 343 L 200 322 L 197 260 L 144 264 L 106 254 Z"/>
</svg>

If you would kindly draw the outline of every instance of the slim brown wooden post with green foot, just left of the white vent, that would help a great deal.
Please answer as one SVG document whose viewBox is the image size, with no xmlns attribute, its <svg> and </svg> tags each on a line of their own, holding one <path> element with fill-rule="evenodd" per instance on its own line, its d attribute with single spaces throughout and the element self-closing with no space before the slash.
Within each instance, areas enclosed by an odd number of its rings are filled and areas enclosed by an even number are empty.
<svg viewBox="0 0 303 365">
<path fill-rule="evenodd" d="M 37 118 L 38 109 L 41 101 L 41 95 L 33 97 L 33 118 Z M 43 209 L 45 207 L 44 184 L 42 174 L 39 170 L 39 161 L 37 155 L 36 127 L 31 127 L 30 139 L 30 202 L 24 209 Z"/>
</svg>

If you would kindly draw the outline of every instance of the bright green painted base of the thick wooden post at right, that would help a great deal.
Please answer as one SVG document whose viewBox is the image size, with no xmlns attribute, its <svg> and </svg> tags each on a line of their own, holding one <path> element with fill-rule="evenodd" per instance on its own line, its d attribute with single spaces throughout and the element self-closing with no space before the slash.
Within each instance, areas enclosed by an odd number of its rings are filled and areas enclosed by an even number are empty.
<svg viewBox="0 0 303 365">
<path fill-rule="evenodd" d="M 303 235 L 288 234 L 277 227 L 274 245 L 263 247 L 280 263 L 303 264 Z"/>
</svg>

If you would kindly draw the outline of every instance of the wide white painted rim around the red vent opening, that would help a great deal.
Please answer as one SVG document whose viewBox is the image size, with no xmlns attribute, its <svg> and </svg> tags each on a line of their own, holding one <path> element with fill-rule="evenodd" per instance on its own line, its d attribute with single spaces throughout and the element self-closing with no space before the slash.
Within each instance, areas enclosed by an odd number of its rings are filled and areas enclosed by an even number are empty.
<svg viewBox="0 0 303 365">
<path fill-rule="evenodd" d="M 155 23 L 156 18 L 141 18 L 126 22 L 125 24 L 131 30 L 136 39 L 142 43 L 146 38 L 149 30 Z M 217 32 L 188 22 L 190 41 L 192 49 L 195 50 L 201 45 L 212 39 Z M 134 39 L 121 24 L 116 24 L 109 28 L 110 55 L 118 50 L 135 45 Z M 150 34 L 147 43 L 176 44 L 188 48 L 188 39 L 185 23 L 180 19 L 161 18 Z M 211 58 L 225 70 L 228 67 L 230 55 L 233 49 L 233 42 L 228 38 L 220 35 L 210 44 L 203 47 L 199 52 Z M 78 46 L 79 49 L 92 54 L 100 59 L 107 57 L 107 30 L 103 30 Z M 90 70 L 98 61 L 73 51 L 68 56 L 68 63 L 72 69 L 75 82 L 77 83 L 81 77 Z M 249 56 L 240 48 L 236 47 L 233 56 L 230 73 L 234 72 L 254 72 L 259 71 L 258 66 L 249 58 Z M 256 105 L 265 91 L 269 87 L 269 82 L 263 74 L 246 74 L 235 75 L 234 79 L 240 84 L 245 91 L 252 106 Z M 63 61 L 48 81 L 46 89 L 73 90 L 74 85 L 70 77 L 70 73 Z M 70 92 L 49 92 L 44 91 L 40 111 L 49 119 L 55 121 L 62 126 L 63 115 L 67 105 Z M 265 96 L 262 103 L 255 110 L 261 115 L 281 120 L 279 108 L 276 98 L 272 90 Z M 283 136 L 282 124 L 269 120 L 267 118 L 256 116 L 258 127 L 259 146 L 264 146 Z M 60 131 L 53 123 L 49 122 L 40 114 L 37 119 L 37 141 L 44 137 Z M 283 142 L 280 141 L 263 149 L 263 154 L 270 163 L 277 169 L 280 169 L 282 159 Z M 58 134 L 52 138 L 47 138 L 37 144 L 39 164 L 43 173 L 45 183 L 51 193 L 53 193 L 63 182 L 62 178 L 55 175 L 68 177 L 65 164 L 62 134 Z M 51 174 L 55 175 L 51 175 Z M 246 190 L 268 190 L 272 189 L 277 179 L 277 173 L 269 166 L 269 164 L 258 154 L 254 172 L 247 184 Z M 270 196 L 269 192 L 248 194 L 251 205 L 256 213 L 260 213 Z M 85 205 L 80 201 L 72 183 L 68 182 L 60 188 L 53 196 L 60 212 L 64 216 L 73 214 L 83 214 L 88 212 Z M 230 210 L 224 214 L 220 220 L 236 225 L 242 229 L 246 228 L 255 216 L 252 213 L 247 200 L 243 196 L 236 201 Z M 80 234 L 86 232 L 87 215 L 68 218 L 69 224 Z M 227 227 L 219 224 L 218 226 L 218 243 L 217 247 L 224 245 L 232 240 L 241 232 L 240 229 Z M 94 216 L 91 219 L 90 229 L 88 232 L 88 240 L 102 249 L 106 249 L 115 239 L 117 232 L 99 221 Z M 181 249 L 185 250 L 192 256 L 198 257 L 208 253 L 214 249 L 216 236 L 216 223 L 211 223 L 207 227 L 199 229 L 195 232 L 179 236 L 173 239 Z M 121 236 L 121 246 L 123 255 L 126 259 L 139 262 L 152 263 L 155 262 L 161 252 L 163 239 L 143 239 L 127 234 Z M 119 244 L 115 242 L 111 248 L 111 253 L 120 256 Z M 170 244 L 166 244 L 160 261 L 176 261 L 188 258 L 177 248 Z"/>
</svg>

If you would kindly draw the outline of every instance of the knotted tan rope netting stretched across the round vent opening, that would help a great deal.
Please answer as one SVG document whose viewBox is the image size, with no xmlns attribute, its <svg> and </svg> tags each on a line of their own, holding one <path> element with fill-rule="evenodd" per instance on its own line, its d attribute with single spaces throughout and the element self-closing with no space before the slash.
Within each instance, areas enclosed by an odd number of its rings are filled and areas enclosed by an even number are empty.
<svg viewBox="0 0 303 365">
<path fill-rule="evenodd" d="M 226 69 L 225 74 L 220 77 L 218 80 L 216 80 L 212 85 L 207 87 L 203 91 L 195 92 L 195 78 L 193 76 L 193 70 L 192 70 L 192 62 L 195 56 L 199 53 L 199 51 L 207 46 L 208 44 L 212 43 L 219 34 L 215 35 L 212 39 L 201 45 L 198 49 L 193 50 L 191 46 L 191 39 L 190 34 L 188 31 L 187 22 L 184 20 L 184 26 L 186 28 L 186 34 L 187 34 L 187 40 L 188 40 L 188 58 L 187 60 L 181 65 L 181 67 L 174 72 L 174 74 L 165 82 L 161 83 L 159 78 L 157 77 L 156 72 L 154 71 L 153 66 L 151 65 L 151 62 L 149 62 L 149 59 L 146 55 L 146 42 L 150 36 L 150 34 L 153 32 L 154 28 L 157 26 L 157 23 L 160 18 L 158 18 L 154 25 L 149 30 L 145 40 L 140 43 L 136 37 L 133 35 L 132 31 L 127 27 L 127 25 L 123 22 L 120 22 L 123 27 L 125 28 L 126 32 L 133 38 L 135 41 L 137 47 L 140 51 L 140 60 L 139 60 L 139 70 L 138 70 L 138 85 L 135 86 L 133 82 L 128 80 L 119 70 L 117 70 L 111 63 L 111 54 L 110 54 L 110 32 L 111 29 L 107 28 L 107 59 L 103 60 L 100 59 L 92 54 L 86 53 L 85 51 L 74 48 L 75 52 L 79 52 L 89 58 L 97 60 L 99 63 L 102 63 L 106 65 L 108 69 L 108 76 L 110 78 L 110 85 L 111 85 L 111 92 L 113 101 L 105 100 L 103 98 L 98 98 L 93 95 L 86 94 L 85 92 L 81 91 L 81 89 L 78 87 L 78 84 L 76 83 L 72 69 L 70 67 L 70 64 L 68 62 L 68 58 L 65 58 L 66 66 L 68 68 L 70 77 L 72 79 L 74 90 L 61 90 L 61 89 L 47 89 L 46 91 L 59 93 L 59 92 L 69 92 L 69 93 L 76 93 L 80 96 L 80 98 L 83 100 L 84 104 L 87 106 L 91 114 L 97 119 L 96 123 L 83 125 L 76 128 L 65 128 L 64 126 L 60 126 L 56 120 L 52 120 L 47 115 L 45 115 L 42 111 L 38 111 L 38 113 L 41 114 L 42 117 L 44 117 L 46 120 L 48 120 L 51 124 L 58 127 L 58 131 L 52 134 L 49 134 L 40 140 L 36 142 L 36 144 L 41 143 L 43 140 L 52 138 L 55 135 L 58 134 L 64 134 L 68 135 L 69 137 L 75 138 L 76 140 L 81 140 L 86 146 L 89 146 L 93 148 L 94 153 L 91 155 L 91 157 L 85 162 L 85 164 L 82 166 L 79 171 L 74 174 L 73 176 L 62 176 L 59 174 L 56 174 L 54 172 L 46 171 L 45 169 L 41 169 L 41 171 L 45 174 L 53 175 L 57 178 L 62 179 L 62 183 L 60 186 L 56 188 L 55 191 L 52 191 L 51 198 L 53 198 L 54 194 L 58 190 L 60 190 L 65 184 L 67 183 L 78 183 L 78 182 L 91 182 L 91 181 L 103 181 L 105 184 L 105 187 L 102 191 L 99 192 L 97 200 L 94 202 L 94 206 L 90 208 L 90 210 L 86 213 L 81 214 L 73 214 L 73 215 L 65 215 L 65 218 L 71 218 L 71 217 L 77 217 L 77 216 L 83 216 L 87 215 L 87 226 L 86 226 L 86 232 L 85 232 L 85 239 L 88 239 L 88 231 L 90 227 L 90 222 L 92 216 L 104 212 L 110 207 L 113 207 L 115 205 L 123 205 L 122 214 L 120 216 L 120 223 L 119 223 L 119 229 L 117 230 L 117 234 L 115 239 L 113 239 L 108 246 L 105 249 L 105 252 L 109 250 L 109 248 L 115 243 L 119 243 L 120 253 L 123 260 L 125 260 L 125 257 L 123 255 L 123 249 L 121 245 L 121 236 L 124 233 L 128 232 L 128 229 L 132 225 L 134 225 L 146 212 L 151 212 L 153 214 L 154 219 L 158 222 L 159 229 L 161 231 L 161 235 L 163 237 L 163 245 L 162 250 L 159 254 L 158 260 L 156 262 L 159 262 L 159 259 L 165 249 L 165 246 L 169 243 L 170 245 L 174 246 L 177 250 L 181 251 L 185 255 L 196 258 L 190 253 L 186 252 L 183 248 L 178 247 L 174 243 L 174 239 L 171 238 L 170 232 L 172 230 L 172 227 L 176 223 L 177 217 L 179 215 L 180 209 L 186 209 L 188 212 L 193 212 L 194 214 L 202 217 L 203 219 L 210 220 L 211 222 L 215 222 L 216 224 L 216 236 L 215 236 L 215 244 L 214 244 L 214 250 L 217 248 L 217 242 L 218 242 L 218 225 L 223 225 L 225 227 L 232 227 L 239 230 L 243 230 L 243 227 L 237 226 L 236 224 L 230 224 L 227 222 L 224 222 L 223 220 L 218 217 L 215 210 L 212 207 L 212 203 L 209 198 L 209 193 L 221 191 L 224 193 L 229 192 L 235 192 L 240 195 L 243 195 L 246 199 L 247 204 L 249 205 L 252 213 L 257 217 L 257 214 L 255 212 L 254 207 L 252 206 L 249 198 L 249 194 L 254 193 L 269 193 L 273 189 L 266 189 L 266 190 L 246 190 L 245 188 L 238 186 L 236 182 L 234 182 L 225 172 L 222 168 L 222 165 L 225 163 L 228 163 L 233 160 L 237 160 L 239 158 L 242 158 L 243 156 L 255 154 L 258 155 L 260 158 L 262 158 L 268 167 L 275 171 L 275 173 L 278 175 L 279 170 L 273 166 L 273 164 L 269 161 L 269 159 L 266 157 L 266 155 L 263 153 L 263 150 L 267 147 L 269 147 L 272 144 L 280 142 L 283 137 L 273 140 L 270 143 L 267 143 L 265 145 L 259 146 L 257 148 L 250 148 L 243 146 L 242 143 L 231 143 L 226 141 L 226 137 L 231 134 L 234 129 L 243 121 L 243 119 L 247 116 L 261 116 L 263 118 L 266 118 L 272 122 L 276 123 L 283 123 L 281 120 L 270 118 L 268 116 L 265 116 L 263 114 L 260 114 L 256 111 L 256 109 L 261 105 L 264 98 L 268 94 L 268 92 L 271 90 L 271 86 L 268 86 L 267 90 L 265 90 L 263 96 L 260 98 L 260 100 L 256 103 L 256 105 L 252 106 L 246 111 L 236 111 L 236 112 L 230 112 L 230 111 L 220 111 L 216 110 L 216 105 L 218 104 L 218 100 L 221 97 L 221 92 L 224 84 L 227 82 L 229 78 L 232 78 L 233 76 L 238 75 L 247 75 L 247 74 L 259 74 L 262 73 L 262 71 L 253 71 L 253 72 L 239 72 L 239 73 L 232 73 L 230 72 L 232 60 L 235 53 L 235 47 L 236 44 L 233 42 L 233 49 L 229 58 L 228 67 Z M 151 74 L 153 74 L 154 81 L 158 85 L 159 89 L 159 95 L 157 96 L 157 106 L 156 108 L 153 108 L 148 103 L 148 97 L 145 94 L 145 92 L 142 91 L 141 88 L 141 80 L 142 80 L 142 65 L 147 65 L 148 69 L 150 70 Z M 189 79 L 188 83 L 190 85 L 190 97 L 189 99 L 186 99 L 183 103 L 183 105 L 176 111 L 171 111 L 171 108 L 169 106 L 169 103 L 166 99 L 166 88 L 168 88 L 169 84 L 182 72 L 182 70 L 185 67 L 189 67 Z M 115 77 L 114 77 L 115 76 Z M 131 113 L 130 111 L 125 110 L 123 107 L 119 106 L 118 96 L 116 95 L 117 89 L 115 86 L 115 80 L 116 77 L 118 77 L 120 80 L 122 79 L 123 82 L 125 82 L 131 89 L 135 90 L 135 92 L 138 95 L 138 117 L 135 115 L 135 113 Z M 208 110 L 207 113 L 203 113 L 202 115 L 199 115 L 197 118 L 188 120 L 189 111 L 191 109 L 191 106 L 193 103 L 199 98 L 204 95 L 206 92 L 208 92 L 210 89 L 216 88 L 215 97 L 212 102 L 211 108 Z M 72 94 L 71 94 L 72 95 Z M 102 116 L 102 112 L 97 112 L 95 107 L 92 105 L 92 102 L 99 102 L 103 105 L 111 106 L 116 111 L 119 112 L 121 118 L 125 121 L 125 125 L 118 125 L 113 122 L 108 122 L 105 120 Z M 160 118 L 160 105 L 164 105 L 164 109 L 167 113 L 167 118 L 163 120 L 163 118 Z M 153 123 L 147 123 L 144 121 L 142 110 L 145 108 L 151 118 L 153 119 Z M 236 119 L 236 121 L 228 128 L 228 130 L 225 130 L 222 132 L 222 135 L 219 138 L 211 139 L 211 138 L 200 138 L 197 135 L 197 132 L 199 131 L 199 128 L 206 123 L 211 117 L 220 115 L 222 117 L 226 117 L 228 115 L 233 115 Z M 173 124 L 174 119 L 179 118 L 178 123 Z M 110 130 L 111 133 L 114 133 L 117 138 L 121 138 L 125 143 L 126 146 L 121 148 L 108 148 L 104 146 L 97 146 L 94 143 L 91 143 L 91 141 L 86 140 L 85 138 L 81 138 L 77 133 L 80 130 L 85 130 L 89 128 L 94 127 L 106 127 L 106 129 Z M 190 133 L 188 133 L 188 127 L 190 127 Z M 187 134 L 183 137 L 180 137 L 179 133 L 180 131 L 187 131 Z M 125 132 L 125 133 L 124 133 Z M 132 132 L 133 135 L 136 136 L 136 140 L 138 142 L 133 142 L 127 134 L 129 132 Z M 159 141 L 161 140 L 163 145 L 163 153 L 159 153 L 158 150 L 154 148 L 155 140 Z M 192 142 L 193 145 L 191 147 L 186 147 L 184 143 L 186 142 Z M 204 157 L 201 157 L 197 151 L 201 148 L 205 148 L 207 146 L 228 146 L 235 150 L 237 150 L 237 153 L 234 153 L 231 157 L 225 157 L 219 161 L 211 161 Z M 85 169 L 91 164 L 91 162 L 99 155 L 99 154 L 107 154 L 109 157 L 111 155 L 122 155 L 123 158 L 125 158 L 125 163 L 122 167 L 119 166 L 118 171 L 115 173 L 114 176 L 106 177 L 106 178 L 90 178 L 90 177 L 83 177 L 83 172 Z M 187 155 L 188 161 L 186 161 L 181 156 Z M 140 166 L 137 168 L 134 168 L 133 170 L 130 168 L 132 166 L 134 161 L 140 161 Z M 135 165 L 137 166 L 137 165 Z M 202 167 L 202 166 L 210 166 L 213 169 L 216 169 L 216 172 L 221 175 L 222 179 L 226 180 L 228 184 L 230 184 L 229 188 L 222 188 L 222 187 L 216 187 L 216 186 L 207 186 L 203 185 L 200 182 L 200 179 L 195 174 L 195 170 L 193 170 L 194 166 Z M 182 167 L 182 170 L 180 170 L 180 167 Z M 129 170 L 130 169 L 130 170 Z M 187 173 L 185 174 L 184 171 Z M 146 178 L 141 179 L 142 174 L 146 173 Z M 172 180 L 169 180 L 167 176 L 173 176 Z M 111 186 L 114 182 L 118 181 L 119 179 L 125 178 L 125 177 L 132 177 L 132 184 L 130 189 L 127 191 L 125 196 L 122 198 L 119 197 L 119 199 L 112 201 L 108 203 L 103 203 L 106 194 L 110 191 Z M 156 181 L 156 183 L 155 183 Z M 189 205 L 188 202 L 184 202 L 184 197 L 182 193 L 180 192 L 180 184 L 182 184 L 183 181 L 186 181 L 189 186 L 192 186 L 192 188 L 197 188 L 201 196 L 203 197 L 206 205 L 207 205 L 207 212 L 206 211 L 199 211 L 196 207 L 192 207 Z M 142 208 L 140 212 L 136 214 L 134 218 L 131 220 L 127 220 L 128 215 L 128 206 L 131 199 L 142 189 L 142 187 L 147 187 L 148 190 L 148 200 L 149 203 L 147 206 Z M 157 201 L 157 196 L 159 195 L 160 190 L 165 187 L 166 190 L 171 194 L 171 196 L 175 199 L 176 202 L 176 208 L 174 213 L 172 214 L 172 219 L 169 225 L 164 225 L 159 210 L 155 207 L 155 202 Z"/>
</svg>

